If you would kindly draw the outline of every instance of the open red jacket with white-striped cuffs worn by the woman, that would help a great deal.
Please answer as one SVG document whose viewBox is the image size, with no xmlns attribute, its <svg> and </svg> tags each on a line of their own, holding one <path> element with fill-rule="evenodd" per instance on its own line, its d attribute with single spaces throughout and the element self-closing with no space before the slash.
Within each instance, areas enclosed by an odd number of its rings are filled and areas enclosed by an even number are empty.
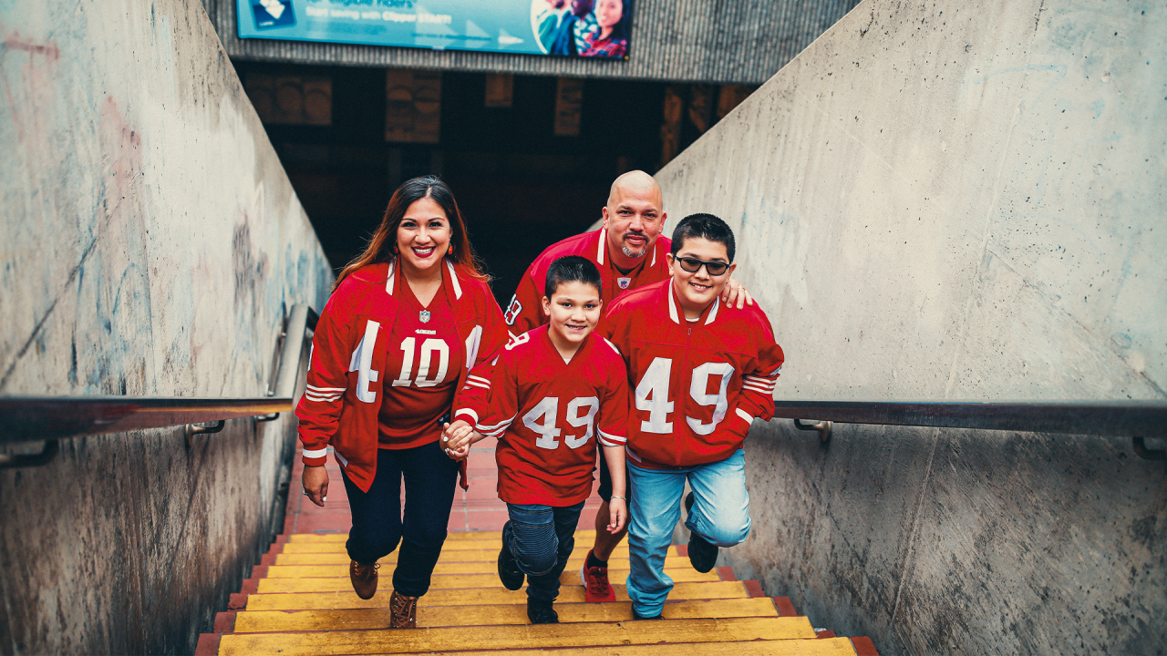
<svg viewBox="0 0 1167 656">
<path fill-rule="evenodd" d="M 490 287 L 461 265 L 443 265 L 442 284 L 466 363 L 457 374 L 456 389 L 462 390 L 468 371 L 492 357 L 509 334 Z M 397 316 L 393 287 L 401 284 L 393 268 L 392 263 L 361 267 L 333 292 L 316 323 L 308 386 L 296 406 L 305 465 L 323 465 L 331 445 L 344 473 L 364 491 L 377 473 L 380 395 L 394 376 L 385 371 L 386 342 Z"/>
</svg>

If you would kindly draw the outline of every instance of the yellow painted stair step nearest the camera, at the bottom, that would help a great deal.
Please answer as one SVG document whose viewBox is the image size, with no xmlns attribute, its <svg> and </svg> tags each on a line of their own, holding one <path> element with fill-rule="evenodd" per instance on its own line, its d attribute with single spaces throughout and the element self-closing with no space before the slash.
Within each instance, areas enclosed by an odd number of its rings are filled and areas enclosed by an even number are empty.
<svg viewBox="0 0 1167 656">
<path fill-rule="evenodd" d="M 226 634 L 222 656 L 279 654 L 410 654 L 436 650 L 538 649 L 588 645 L 813 640 L 806 617 L 729 617 L 722 620 L 652 620 L 491 627 L 418 628 L 412 630 L 333 630 L 328 633 Z M 677 650 L 682 652 L 682 650 Z"/>
</svg>

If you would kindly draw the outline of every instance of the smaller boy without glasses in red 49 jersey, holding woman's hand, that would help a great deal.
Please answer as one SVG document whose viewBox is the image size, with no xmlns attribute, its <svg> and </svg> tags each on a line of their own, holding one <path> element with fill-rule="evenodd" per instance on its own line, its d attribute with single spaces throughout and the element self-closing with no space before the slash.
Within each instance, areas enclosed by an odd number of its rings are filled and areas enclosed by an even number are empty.
<svg viewBox="0 0 1167 656">
<path fill-rule="evenodd" d="M 543 298 L 551 322 L 515 337 L 494 362 L 475 369 L 467 385 L 489 395 L 466 397 L 469 407 L 455 409 L 446 431 L 452 458 L 464 458 L 483 437 L 498 438 L 498 498 L 510 514 L 498 578 L 509 589 L 526 578 L 526 614 L 536 624 L 559 621 L 552 602 L 592 494 L 593 437 L 612 474 L 608 531 L 619 533 L 628 517 L 628 376 L 620 351 L 589 335 L 600 320 L 600 272 L 586 258 L 552 263 Z"/>
</svg>

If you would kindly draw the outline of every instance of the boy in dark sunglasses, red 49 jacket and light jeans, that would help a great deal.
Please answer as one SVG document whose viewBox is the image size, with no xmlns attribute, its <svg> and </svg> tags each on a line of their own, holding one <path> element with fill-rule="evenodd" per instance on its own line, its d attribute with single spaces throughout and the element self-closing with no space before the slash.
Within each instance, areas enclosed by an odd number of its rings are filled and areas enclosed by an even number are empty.
<svg viewBox="0 0 1167 656">
<path fill-rule="evenodd" d="M 623 354 L 635 386 L 627 452 L 635 489 L 628 595 L 636 619 L 659 617 L 672 589 L 664 559 L 686 480 L 697 571 L 712 570 L 718 547 L 749 535 L 742 442 L 755 417 L 773 417 L 783 361 L 757 305 L 733 309 L 719 300 L 734 270 L 733 231 L 724 221 L 685 217 L 671 251 L 672 278 L 621 295 L 599 330 Z"/>
</svg>

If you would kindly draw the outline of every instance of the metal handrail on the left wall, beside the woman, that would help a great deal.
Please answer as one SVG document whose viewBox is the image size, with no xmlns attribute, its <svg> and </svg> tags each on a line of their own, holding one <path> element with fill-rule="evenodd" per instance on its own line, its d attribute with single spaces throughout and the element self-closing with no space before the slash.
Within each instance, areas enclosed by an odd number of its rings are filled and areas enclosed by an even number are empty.
<svg viewBox="0 0 1167 656">
<path fill-rule="evenodd" d="M 0 454 L 0 469 L 44 465 L 56 454 L 57 440 L 62 439 L 186 425 L 189 441 L 194 434 L 217 433 L 230 419 L 274 419 L 292 410 L 303 347 L 317 320 L 307 305 L 292 306 L 275 385 L 263 397 L 0 396 L 0 445 L 46 442 L 39 454 Z M 195 426 L 208 423 L 216 426 Z"/>
</svg>

